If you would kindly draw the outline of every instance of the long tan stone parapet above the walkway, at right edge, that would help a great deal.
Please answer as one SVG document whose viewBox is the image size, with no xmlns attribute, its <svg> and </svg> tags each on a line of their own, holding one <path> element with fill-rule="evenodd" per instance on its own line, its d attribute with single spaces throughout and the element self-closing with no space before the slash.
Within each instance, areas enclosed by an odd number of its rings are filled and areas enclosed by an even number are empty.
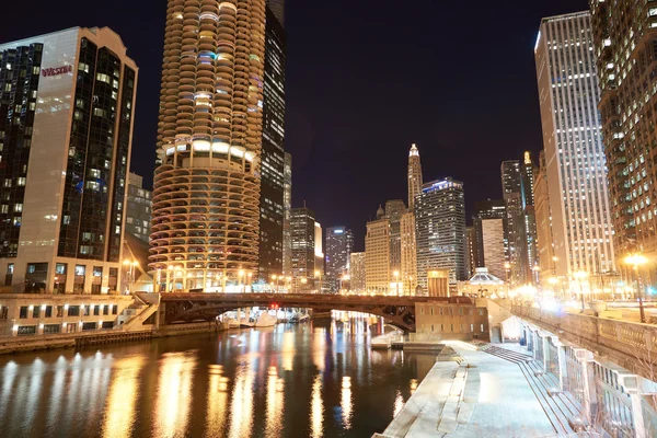
<svg viewBox="0 0 657 438">
<path fill-rule="evenodd" d="M 647 378 L 657 376 L 657 326 L 585 314 L 499 303 L 512 314 L 549 330 L 560 338 L 591 348 L 601 356 Z M 585 344 L 585 345 L 583 345 Z M 602 348 L 603 347 L 603 348 Z"/>
</svg>

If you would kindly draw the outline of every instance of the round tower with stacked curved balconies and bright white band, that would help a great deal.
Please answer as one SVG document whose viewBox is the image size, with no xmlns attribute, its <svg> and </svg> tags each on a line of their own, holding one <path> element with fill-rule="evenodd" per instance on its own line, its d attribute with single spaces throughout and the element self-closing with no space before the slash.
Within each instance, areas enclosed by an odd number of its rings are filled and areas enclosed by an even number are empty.
<svg viewBox="0 0 657 438">
<path fill-rule="evenodd" d="M 265 0 L 169 0 L 155 290 L 226 291 L 257 269 L 264 48 Z"/>
</svg>

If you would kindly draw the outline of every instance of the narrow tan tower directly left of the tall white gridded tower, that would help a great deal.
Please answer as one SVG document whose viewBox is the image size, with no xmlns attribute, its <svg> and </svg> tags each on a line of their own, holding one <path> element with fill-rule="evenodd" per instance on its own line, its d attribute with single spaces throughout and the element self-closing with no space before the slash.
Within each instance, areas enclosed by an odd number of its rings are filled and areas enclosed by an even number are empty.
<svg viewBox="0 0 657 438">
<path fill-rule="evenodd" d="M 548 191 L 545 152 L 539 155 L 539 169 L 534 177 L 534 211 L 537 220 L 537 256 L 540 267 L 541 286 L 549 287 L 550 278 L 556 277 L 554 245 L 552 238 L 552 214 Z"/>
</svg>

